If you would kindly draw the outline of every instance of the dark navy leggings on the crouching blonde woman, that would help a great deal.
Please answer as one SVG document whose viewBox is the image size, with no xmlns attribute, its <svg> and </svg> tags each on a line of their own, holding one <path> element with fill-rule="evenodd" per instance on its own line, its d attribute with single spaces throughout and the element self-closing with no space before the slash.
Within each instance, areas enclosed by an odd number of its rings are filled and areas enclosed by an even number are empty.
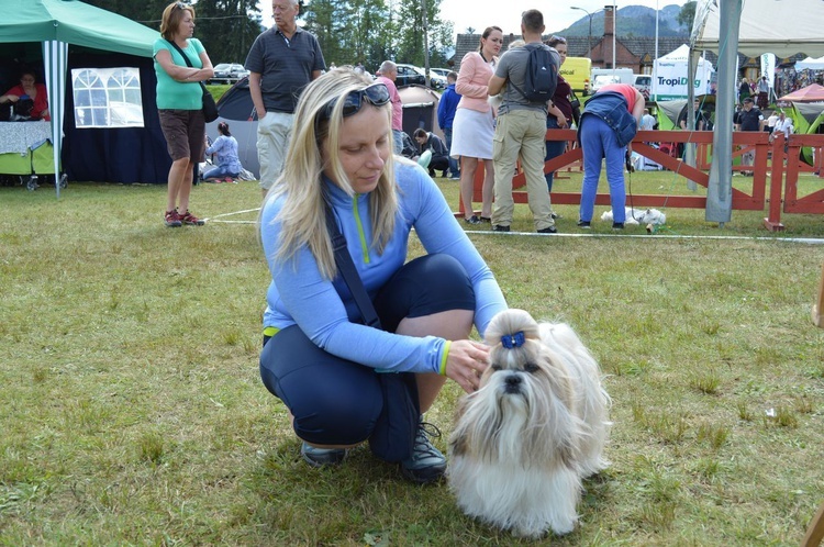
<svg viewBox="0 0 824 547">
<path fill-rule="evenodd" d="M 375 299 L 385 331 L 404 317 L 475 310 L 475 291 L 464 267 L 448 255 L 405 264 Z M 353 344 L 357 344 L 353 341 Z M 294 432 L 319 445 L 354 445 L 369 438 L 385 401 L 376 370 L 315 346 L 298 325 L 264 341 L 260 377 L 294 416 Z"/>
</svg>

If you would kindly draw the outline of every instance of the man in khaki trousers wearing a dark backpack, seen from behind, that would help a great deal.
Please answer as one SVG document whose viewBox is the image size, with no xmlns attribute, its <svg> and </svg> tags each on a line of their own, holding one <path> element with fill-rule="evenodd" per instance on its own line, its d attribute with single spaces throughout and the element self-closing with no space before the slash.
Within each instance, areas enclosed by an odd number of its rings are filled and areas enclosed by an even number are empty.
<svg viewBox="0 0 824 547">
<path fill-rule="evenodd" d="M 521 16 L 524 45 L 506 52 L 489 80 L 489 94 L 503 90 L 492 144 L 495 171 L 492 230 L 495 232 L 509 232 L 514 217 L 512 175 L 519 157 L 526 176 L 535 228 L 539 234 L 557 232 L 544 179 L 544 137 L 548 103 L 558 85 L 560 56 L 542 42 L 544 29 L 543 13 L 525 11 Z"/>
</svg>

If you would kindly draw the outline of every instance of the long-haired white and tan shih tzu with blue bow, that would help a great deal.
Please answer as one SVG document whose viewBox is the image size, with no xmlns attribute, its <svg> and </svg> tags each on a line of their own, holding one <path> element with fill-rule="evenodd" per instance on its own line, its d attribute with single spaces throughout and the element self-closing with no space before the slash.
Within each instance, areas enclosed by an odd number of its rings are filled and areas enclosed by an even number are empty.
<svg viewBox="0 0 824 547">
<path fill-rule="evenodd" d="M 567 534 L 581 479 L 609 464 L 601 371 L 568 325 L 523 310 L 495 315 L 486 343 L 489 367 L 449 438 L 449 488 L 466 514 L 516 536 Z"/>
</svg>

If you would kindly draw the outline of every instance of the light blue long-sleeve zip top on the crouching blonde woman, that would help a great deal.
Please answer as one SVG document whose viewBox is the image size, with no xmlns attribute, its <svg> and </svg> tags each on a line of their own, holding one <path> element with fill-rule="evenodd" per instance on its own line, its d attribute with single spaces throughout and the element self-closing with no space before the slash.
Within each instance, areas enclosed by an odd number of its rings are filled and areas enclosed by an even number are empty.
<svg viewBox="0 0 824 547">
<path fill-rule="evenodd" d="M 349 198 L 324 179 L 338 226 L 360 279 L 375 298 L 378 290 L 407 260 L 410 231 L 414 227 L 426 253 L 455 257 L 466 269 L 475 289 L 475 325 L 483 334 L 490 320 L 506 309 L 506 302 L 492 271 L 455 220 L 434 181 L 417 165 L 396 160 L 399 216 L 382 255 L 369 247 L 368 194 Z M 283 198 L 270 198 L 264 205 L 260 230 L 271 272 L 264 327 L 279 330 L 299 325 L 319 347 L 332 355 L 376 369 L 437 372 L 448 344 L 443 338 L 423 338 L 387 333 L 354 323 L 360 313 L 343 279 L 324 279 L 308 247 L 293 259 L 276 261 L 280 236 L 277 214 Z M 344 295 L 343 299 L 341 295 Z"/>
</svg>

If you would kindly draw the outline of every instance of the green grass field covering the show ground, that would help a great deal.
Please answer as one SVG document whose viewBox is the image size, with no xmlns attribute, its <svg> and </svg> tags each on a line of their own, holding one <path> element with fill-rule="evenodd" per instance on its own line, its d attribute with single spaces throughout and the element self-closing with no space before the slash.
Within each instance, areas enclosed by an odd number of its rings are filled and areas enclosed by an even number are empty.
<svg viewBox="0 0 824 547">
<path fill-rule="evenodd" d="M 683 192 L 666 172 L 632 185 Z M 170 230 L 165 187 L 0 188 L 0 545 L 534 545 L 366 448 L 302 462 L 257 369 L 259 200 L 202 185 L 210 221 Z M 792 238 L 824 237 L 824 217 L 771 234 L 766 212 L 720 230 L 666 209 L 654 236 L 580 235 L 577 208 L 557 210 L 575 237 L 470 233 L 510 305 L 577 330 L 613 399 L 612 466 L 580 527 L 538 545 L 798 545 L 824 501 L 824 247 Z M 533 231 L 525 205 L 514 226 Z M 460 395 L 447 384 L 426 416 L 442 448 Z"/>
</svg>

